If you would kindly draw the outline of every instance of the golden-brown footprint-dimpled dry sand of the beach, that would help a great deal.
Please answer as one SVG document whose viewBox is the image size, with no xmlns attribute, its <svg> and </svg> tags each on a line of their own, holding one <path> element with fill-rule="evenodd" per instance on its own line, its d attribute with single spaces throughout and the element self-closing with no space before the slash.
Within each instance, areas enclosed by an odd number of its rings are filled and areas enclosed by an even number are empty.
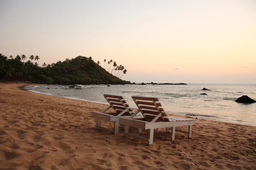
<svg viewBox="0 0 256 170">
<path fill-rule="evenodd" d="M 122 127 L 118 135 L 96 129 L 91 112 L 107 105 L 22 85 L 0 83 L 0 170 L 256 169 L 256 127 L 196 119 L 191 139 L 176 132 L 148 146 Z"/>
</svg>

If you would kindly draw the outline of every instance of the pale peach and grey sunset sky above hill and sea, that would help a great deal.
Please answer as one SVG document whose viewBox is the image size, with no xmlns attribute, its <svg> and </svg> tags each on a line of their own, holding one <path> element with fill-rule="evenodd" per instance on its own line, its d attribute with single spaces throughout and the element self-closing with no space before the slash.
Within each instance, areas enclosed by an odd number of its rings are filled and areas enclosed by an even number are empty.
<svg viewBox="0 0 256 170">
<path fill-rule="evenodd" d="M 0 53 L 39 64 L 81 55 L 131 82 L 256 84 L 254 0 L 0 0 L 0 25 Z"/>
</svg>

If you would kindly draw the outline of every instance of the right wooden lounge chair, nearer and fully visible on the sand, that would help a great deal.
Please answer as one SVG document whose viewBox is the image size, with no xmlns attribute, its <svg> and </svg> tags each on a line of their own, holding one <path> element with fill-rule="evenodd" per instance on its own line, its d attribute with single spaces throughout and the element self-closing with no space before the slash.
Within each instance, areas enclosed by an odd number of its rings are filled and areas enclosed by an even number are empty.
<svg viewBox="0 0 256 170">
<path fill-rule="evenodd" d="M 132 99 L 139 108 L 139 111 L 142 113 L 143 118 L 134 117 L 136 113 L 128 118 L 120 118 L 119 123 L 125 126 L 124 136 L 145 140 L 148 141 L 148 144 L 153 144 L 154 134 L 171 137 L 172 140 L 174 140 L 176 126 L 189 126 L 188 131 L 176 131 L 187 133 L 188 138 L 191 137 L 192 125 L 195 125 L 195 120 L 175 116 L 167 116 L 164 112 L 164 109 L 161 107 L 161 103 L 156 97 L 132 96 Z M 128 133 L 129 126 L 148 130 L 148 138 Z M 172 127 L 171 135 L 157 132 L 160 130 L 160 128 L 163 127 L 166 128 L 166 132 L 169 130 L 169 127 Z M 157 129 L 157 131 L 154 131 L 154 129 Z"/>
</svg>

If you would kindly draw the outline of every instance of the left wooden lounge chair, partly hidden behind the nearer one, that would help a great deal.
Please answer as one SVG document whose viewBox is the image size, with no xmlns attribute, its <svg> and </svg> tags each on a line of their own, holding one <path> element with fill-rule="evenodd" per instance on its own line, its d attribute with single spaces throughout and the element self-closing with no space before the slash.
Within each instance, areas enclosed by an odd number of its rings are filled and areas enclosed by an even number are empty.
<svg viewBox="0 0 256 170">
<path fill-rule="evenodd" d="M 114 134 L 118 134 L 119 117 L 130 117 L 134 112 L 131 110 L 130 106 L 126 103 L 125 99 L 123 99 L 122 96 L 104 94 L 104 97 L 108 101 L 110 106 L 101 112 L 92 112 L 92 117 L 97 118 L 96 128 L 106 130 Z M 111 108 L 113 108 L 115 112 L 106 113 Z M 137 113 L 139 113 L 139 111 L 137 111 Z M 102 119 L 109 122 L 114 122 L 114 130 L 102 127 Z"/>
</svg>

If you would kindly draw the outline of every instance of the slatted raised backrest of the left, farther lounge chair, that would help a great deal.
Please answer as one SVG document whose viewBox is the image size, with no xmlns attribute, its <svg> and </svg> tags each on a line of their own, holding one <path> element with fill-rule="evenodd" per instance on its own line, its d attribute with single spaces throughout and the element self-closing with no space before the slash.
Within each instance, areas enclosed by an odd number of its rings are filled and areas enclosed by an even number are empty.
<svg viewBox="0 0 256 170">
<path fill-rule="evenodd" d="M 111 94 L 103 94 L 103 95 L 105 99 L 108 101 L 108 103 L 111 105 L 113 110 L 116 111 L 116 113 L 121 113 L 122 111 L 128 108 L 128 111 L 126 113 L 129 113 L 130 115 L 132 115 L 132 110 L 130 106 L 125 101 L 125 99 L 123 99 L 122 96 L 111 95 Z"/>
</svg>

